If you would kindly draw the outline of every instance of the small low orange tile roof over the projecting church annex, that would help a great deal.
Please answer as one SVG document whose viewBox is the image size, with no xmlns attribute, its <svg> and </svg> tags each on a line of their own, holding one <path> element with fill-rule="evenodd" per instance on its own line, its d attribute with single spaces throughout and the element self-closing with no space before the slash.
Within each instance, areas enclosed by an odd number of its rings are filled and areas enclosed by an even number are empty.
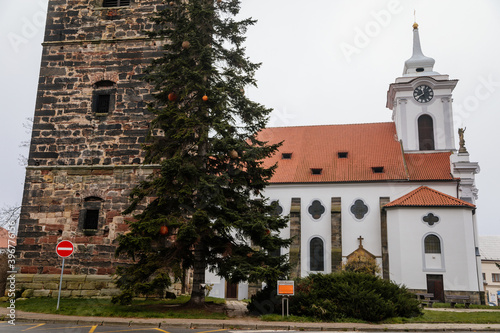
<svg viewBox="0 0 500 333">
<path fill-rule="evenodd" d="M 468 207 L 476 208 L 475 205 L 436 191 L 427 186 L 420 186 L 416 190 L 389 202 L 385 208 L 390 207 Z"/>
</svg>

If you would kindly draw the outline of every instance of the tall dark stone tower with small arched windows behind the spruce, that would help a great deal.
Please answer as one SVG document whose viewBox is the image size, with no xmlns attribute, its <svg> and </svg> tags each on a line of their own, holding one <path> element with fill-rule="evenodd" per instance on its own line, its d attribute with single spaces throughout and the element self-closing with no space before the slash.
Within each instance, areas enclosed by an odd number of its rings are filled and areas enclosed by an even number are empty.
<svg viewBox="0 0 500 333">
<path fill-rule="evenodd" d="M 130 190 L 150 174 L 141 144 L 152 115 L 144 69 L 162 54 L 145 35 L 161 0 L 50 0 L 23 195 L 17 269 L 109 275 Z M 65 272 L 66 273 L 66 272 Z"/>
</svg>

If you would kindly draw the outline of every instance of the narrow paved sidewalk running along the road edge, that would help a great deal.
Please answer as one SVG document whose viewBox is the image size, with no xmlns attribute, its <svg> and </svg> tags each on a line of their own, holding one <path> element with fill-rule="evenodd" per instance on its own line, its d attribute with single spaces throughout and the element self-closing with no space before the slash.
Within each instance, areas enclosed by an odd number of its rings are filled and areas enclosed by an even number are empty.
<svg viewBox="0 0 500 333">
<path fill-rule="evenodd" d="M 241 303 L 241 302 L 236 302 Z M 228 304 L 238 307 L 241 304 Z M 0 308 L 0 316 L 6 315 L 8 309 Z M 236 311 L 236 310 L 235 310 Z M 238 310 L 239 311 L 239 310 Z M 500 315 L 500 313 L 499 313 Z M 148 327 L 175 327 L 197 329 L 229 329 L 229 330 L 295 330 L 295 331 L 398 331 L 398 332 L 429 332 L 429 331 L 498 331 L 500 324 L 360 324 L 360 323 L 293 323 L 265 322 L 257 318 L 214 319 L 143 319 L 114 317 L 79 317 L 54 314 L 30 313 L 16 311 L 17 322 L 65 323 L 76 325 L 128 325 Z"/>
</svg>

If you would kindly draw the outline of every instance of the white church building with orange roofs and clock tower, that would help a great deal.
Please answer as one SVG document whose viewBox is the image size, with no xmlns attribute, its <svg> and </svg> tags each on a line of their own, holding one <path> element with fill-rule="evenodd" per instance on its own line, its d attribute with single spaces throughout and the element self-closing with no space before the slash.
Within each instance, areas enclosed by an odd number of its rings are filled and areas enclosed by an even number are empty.
<svg viewBox="0 0 500 333">
<path fill-rule="evenodd" d="M 266 161 L 278 168 L 265 196 L 290 219 L 282 236 L 293 237 L 283 249 L 294 265 L 291 278 L 339 270 L 363 253 L 377 260 L 384 279 L 412 291 L 480 302 L 479 166 L 469 161 L 464 130 L 453 128 L 458 80 L 433 66 L 414 24 L 413 55 L 387 92 L 392 122 L 261 133 L 271 143 L 284 141 Z M 206 282 L 211 296 L 248 297 L 245 283 L 232 286 L 208 272 Z"/>
</svg>

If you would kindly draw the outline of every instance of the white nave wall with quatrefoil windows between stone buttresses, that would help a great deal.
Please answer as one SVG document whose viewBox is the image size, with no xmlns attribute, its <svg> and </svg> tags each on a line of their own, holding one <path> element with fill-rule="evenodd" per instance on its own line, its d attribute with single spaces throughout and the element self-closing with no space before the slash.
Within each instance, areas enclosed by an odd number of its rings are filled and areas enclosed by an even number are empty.
<svg viewBox="0 0 500 333">
<path fill-rule="evenodd" d="M 420 183 L 355 183 L 355 184 L 273 184 L 266 188 L 264 195 L 271 201 L 279 200 L 283 214 L 290 212 L 292 198 L 301 198 L 301 276 L 310 274 L 309 242 L 318 236 L 324 241 L 324 273 L 331 272 L 331 198 L 341 197 L 342 204 L 342 256 L 345 258 L 359 246 L 358 238 L 363 238 L 363 247 L 373 255 L 380 257 L 380 197 L 395 200 L 423 184 Z M 456 196 L 455 183 L 435 183 L 432 188 L 448 195 Z M 368 206 L 368 213 L 357 219 L 350 208 L 357 199 L 362 199 Z M 308 207 L 314 200 L 319 200 L 325 212 L 319 219 L 308 213 Z M 289 237 L 290 229 L 282 231 L 283 237 Z M 421 259 L 420 259 L 421 260 Z M 380 260 L 379 260 L 380 261 Z M 392 267 L 391 267 L 392 270 Z"/>
</svg>

